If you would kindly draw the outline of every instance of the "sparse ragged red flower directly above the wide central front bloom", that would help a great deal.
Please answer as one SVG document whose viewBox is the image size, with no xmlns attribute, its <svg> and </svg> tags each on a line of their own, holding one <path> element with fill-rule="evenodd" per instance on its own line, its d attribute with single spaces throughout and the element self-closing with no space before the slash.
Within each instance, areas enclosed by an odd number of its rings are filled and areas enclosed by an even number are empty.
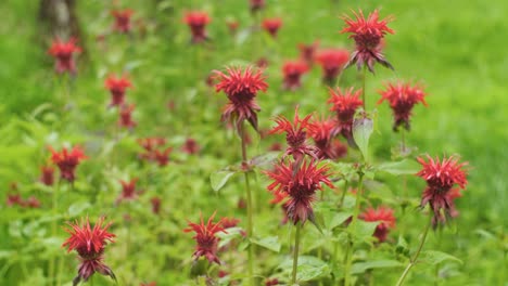
<svg viewBox="0 0 508 286">
<path fill-rule="evenodd" d="M 306 143 L 306 130 L 309 126 L 308 120 L 310 120 L 312 116 L 313 115 L 309 114 L 305 118 L 300 119 L 299 106 L 296 106 L 293 122 L 283 116 L 279 116 L 275 119 L 277 126 L 270 130 L 270 134 L 280 134 L 285 132 L 285 141 L 288 142 L 289 147 L 284 155 L 292 155 L 296 161 L 301 161 L 304 155 L 317 158 L 316 154 L 318 150 Z"/>
</svg>

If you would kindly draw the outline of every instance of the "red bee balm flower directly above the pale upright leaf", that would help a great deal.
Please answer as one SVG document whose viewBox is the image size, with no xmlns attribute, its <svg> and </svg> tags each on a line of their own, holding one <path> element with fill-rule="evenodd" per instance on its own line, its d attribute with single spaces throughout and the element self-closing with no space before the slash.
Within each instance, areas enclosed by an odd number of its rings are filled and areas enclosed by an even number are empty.
<svg viewBox="0 0 508 286">
<path fill-rule="evenodd" d="M 353 88 L 342 91 L 340 88 L 336 90 L 329 89 L 330 99 L 328 103 L 332 104 L 330 110 L 336 113 L 338 127 L 334 133 L 341 133 L 344 138 L 351 139 L 353 136 L 353 119 L 355 112 L 358 107 L 364 105 L 359 99 L 361 90 L 353 91 Z"/>
</svg>

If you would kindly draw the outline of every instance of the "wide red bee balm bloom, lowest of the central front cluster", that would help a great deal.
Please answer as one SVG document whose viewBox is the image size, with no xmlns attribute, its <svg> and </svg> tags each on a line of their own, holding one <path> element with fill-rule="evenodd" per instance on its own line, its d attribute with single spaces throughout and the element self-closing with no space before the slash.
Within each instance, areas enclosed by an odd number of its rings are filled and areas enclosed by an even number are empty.
<svg viewBox="0 0 508 286">
<path fill-rule="evenodd" d="M 322 184 L 333 187 L 328 178 L 328 166 L 318 167 L 314 159 L 303 164 L 293 160 L 287 162 L 281 160 L 275 165 L 274 171 L 265 172 L 274 180 L 267 188 L 271 193 L 288 195 L 285 207 L 288 217 L 294 224 L 299 221 L 305 223 L 307 220 L 314 222 L 312 203 L 315 200 L 316 191 L 322 191 Z"/>
</svg>

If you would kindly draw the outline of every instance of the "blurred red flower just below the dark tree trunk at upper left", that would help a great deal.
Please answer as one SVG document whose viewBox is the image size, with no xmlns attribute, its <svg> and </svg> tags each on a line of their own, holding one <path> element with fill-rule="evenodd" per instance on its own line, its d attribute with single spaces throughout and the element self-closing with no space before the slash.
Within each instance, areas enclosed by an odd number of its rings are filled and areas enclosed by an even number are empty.
<svg viewBox="0 0 508 286">
<path fill-rule="evenodd" d="M 48 50 L 48 52 L 56 60 L 56 62 L 54 62 L 54 69 L 58 74 L 63 74 L 65 72 L 72 75 L 76 74 L 74 54 L 81 52 L 81 48 L 76 46 L 76 41 L 77 40 L 74 38 L 71 38 L 66 42 L 59 38 L 53 40 L 53 43 L 51 44 L 51 48 Z"/>
</svg>

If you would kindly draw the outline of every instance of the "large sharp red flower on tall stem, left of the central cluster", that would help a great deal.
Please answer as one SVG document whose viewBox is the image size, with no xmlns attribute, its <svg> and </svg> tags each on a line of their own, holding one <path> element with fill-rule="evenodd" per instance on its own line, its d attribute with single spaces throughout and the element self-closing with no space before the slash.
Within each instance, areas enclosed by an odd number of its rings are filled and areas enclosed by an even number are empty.
<svg viewBox="0 0 508 286">
<path fill-rule="evenodd" d="M 261 70 L 253 72 L 247 66 L 243 72 L 239 67 L 227 68 L 227 73 L 216 70 L 216 78 L 220 81 L 215 86 L 217 92 L 224 91 L 229 103 L 223 110 L 221 120 L 232 121 L 237 129 L 243 120 L 247 120 L 257 130 L 257 112 L 261 110 L 255 101 L 257 92 L 266 91 L 268 84 Z"/>
</svg>

